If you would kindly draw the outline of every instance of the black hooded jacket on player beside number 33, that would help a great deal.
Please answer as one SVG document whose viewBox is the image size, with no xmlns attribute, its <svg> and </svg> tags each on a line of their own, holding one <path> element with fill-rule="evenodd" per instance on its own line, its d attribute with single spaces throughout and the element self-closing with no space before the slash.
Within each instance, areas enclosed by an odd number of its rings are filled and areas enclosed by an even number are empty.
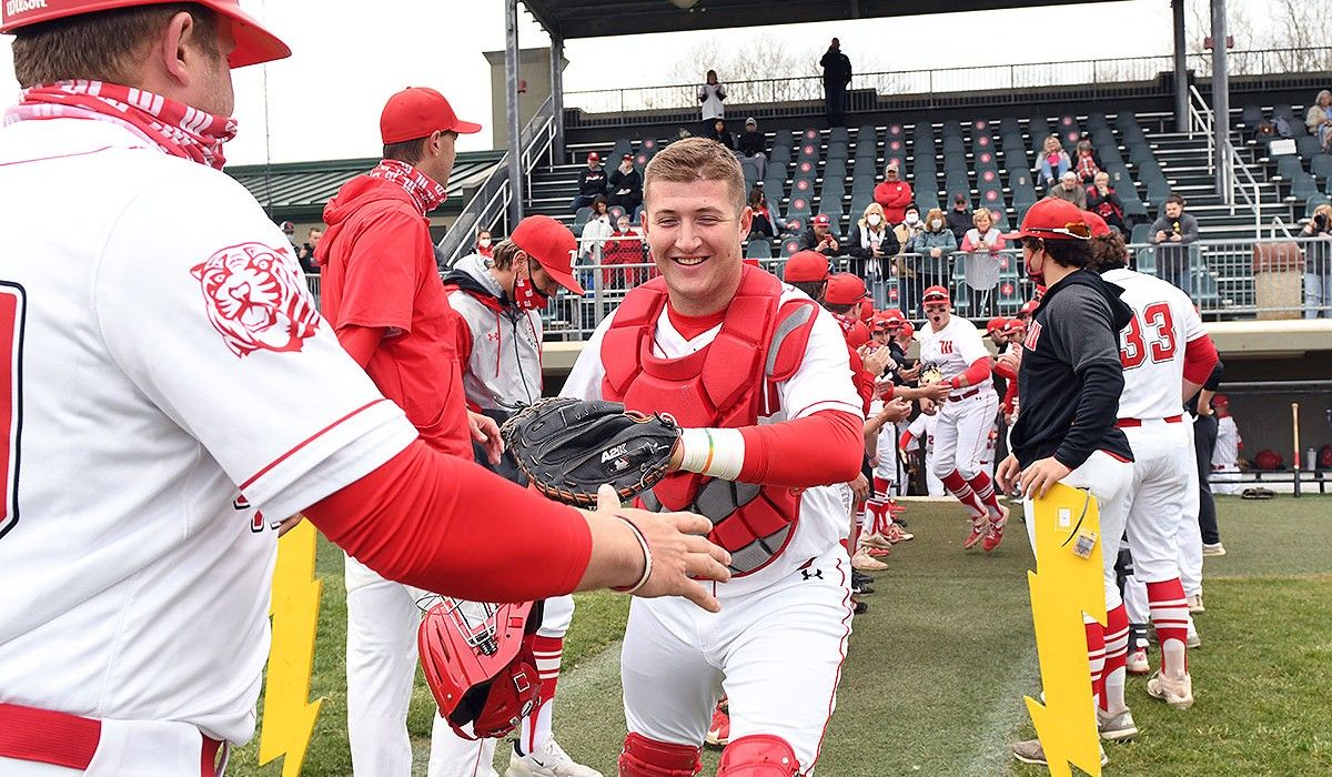
<svg viewBox="0 0 1332 777">
<path fill-rule="evenodd" d="M 1096 450 L 1132 461 L 1115 426 L 1124 368 L 1119 332 L 1134 317 L 1123 289 L 1078 271 L 1046 291 L 1031 317 L 1018 373 L 1012 452 L 1026 468 L 1054 456 L 1070 469 Z"/>
</svg>

